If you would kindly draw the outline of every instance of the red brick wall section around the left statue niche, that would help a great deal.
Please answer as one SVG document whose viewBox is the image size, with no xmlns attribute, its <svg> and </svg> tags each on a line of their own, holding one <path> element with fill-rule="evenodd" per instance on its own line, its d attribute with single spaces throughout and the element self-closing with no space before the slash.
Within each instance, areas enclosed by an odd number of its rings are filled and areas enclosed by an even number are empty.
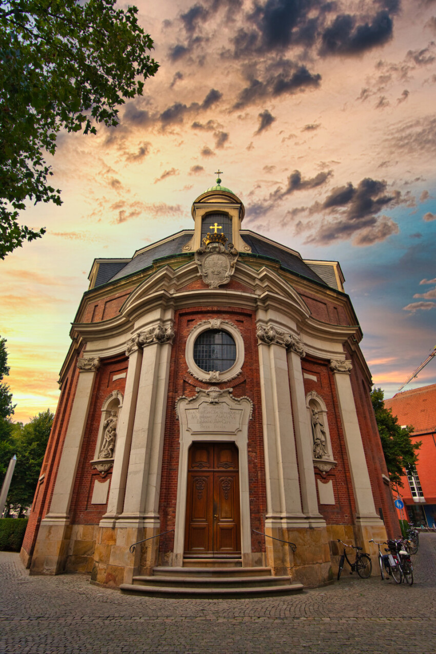
<svg viewBox="0 0 436 654">
<path fill-rule="evenodd" d="M 77 468 L 73 499 L 71 500 L 71 523 L 73 525 L 97 525 L 101 517 L 106 513 L 106 504 L 91 504 L 92 491 L 95 480 L 101 476 L 95 468 L 90 466 L 90 461 L 95 458 L 95 446 L 99 436 L 101 422 L 101 407 L 113 390 L 119 390 L 124 396 L 126 377 L 113 380 L 114 375 L 127 373 L 128 360 L 126 356 L 118 356 L 105 359 L 97 371 L 95 379 L 90 412 L 86 423 L 86 430 L 80 452 L 80 461 Z M 88 374 L 88 373 L 83 373 Z M 112 468 L 105 479 L 112 477 Z M 108 494 L 109 495 L 109 494 Z"/>
</svg>

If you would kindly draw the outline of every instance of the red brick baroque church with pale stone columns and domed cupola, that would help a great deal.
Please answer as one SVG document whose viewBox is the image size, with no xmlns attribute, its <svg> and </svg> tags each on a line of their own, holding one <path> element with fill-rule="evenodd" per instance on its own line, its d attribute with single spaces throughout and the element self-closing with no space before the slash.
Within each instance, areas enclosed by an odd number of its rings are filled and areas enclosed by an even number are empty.
<svg viewBox="0 0 436 654">
<path fill-rule="evenodd" d="M 338 538 L 369 550 L 398 532 L 339 264 L 242 230 L 219 179 L 192 217 L 93 264 L 23 543 L 31 574 L 121 585 L 231 560 L 317 585 Z"/>
</svg>

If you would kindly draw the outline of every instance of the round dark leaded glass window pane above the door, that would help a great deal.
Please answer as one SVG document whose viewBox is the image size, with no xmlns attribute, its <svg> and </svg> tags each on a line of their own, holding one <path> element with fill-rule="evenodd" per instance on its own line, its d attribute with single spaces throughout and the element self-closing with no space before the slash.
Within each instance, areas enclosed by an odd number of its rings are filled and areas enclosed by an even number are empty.
<svg viewBox="0 0 436 654">
<path fill-rule="evenodd" d="M 229 370 L 236 361 L 236 343 L 220 330 L 203 332 L 193 346 L 193 360 L 201 370 Z"/>
</svg>

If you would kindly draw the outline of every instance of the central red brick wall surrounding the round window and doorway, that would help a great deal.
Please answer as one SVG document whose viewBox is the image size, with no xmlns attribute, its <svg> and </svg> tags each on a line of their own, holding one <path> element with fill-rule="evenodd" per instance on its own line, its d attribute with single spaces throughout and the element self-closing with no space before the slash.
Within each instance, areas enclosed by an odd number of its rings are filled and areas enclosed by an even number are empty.
<svg viewBox="0 0 436 654">
<path fill-rule="evenodd" d="M 204 288 L 204 286 L 203 286 Z M 248 426 L 248 481 L 250 486 L 250 519 L 251 526 L 264 531 L 266 511 L 265 496 L 265 462 L 263 455 L 263 432 L 261 417 L 260 373 L 258 345 L 256 339 L 256 314 L 243 309 L 222 311 L 221 307 L 195 307 L 182 309 L 175 313 L 175 339 L 171 352 L 171 371 L 169 377 L 169 392 L 167 417 L 165 422 L 165 439 L 163 443 L 163 463 L 161 477 L 161 494 L 159 513 L 161 515 L 161 531 L 173 529 L 176 515 L 177 476 L 179 457 L 180 428 L 176 420 L 175 402 L 182 395 L 195 396 L 195 388 L 209 388 L 207 383 L 201 383 L 188 373 L 185 358 L 186 339 L 192 328 L 201 320 L 209 318 L 229 320 L 239 329 L 244 339 L 245 358 L 241 375 L 231 382 L 218 384 L 218 388 L 233 388 L 233 396 L 248 396 L 254 403 L 252 420 Z M 186 483 L 186 482 L 185 482 Z M 262 551 L 263 539 L 259 540 L 252 534 L 252 550 Z M 169 534 L 161 539 L 161 551 L 173 549 L 174 535 Z"/>
</svg>

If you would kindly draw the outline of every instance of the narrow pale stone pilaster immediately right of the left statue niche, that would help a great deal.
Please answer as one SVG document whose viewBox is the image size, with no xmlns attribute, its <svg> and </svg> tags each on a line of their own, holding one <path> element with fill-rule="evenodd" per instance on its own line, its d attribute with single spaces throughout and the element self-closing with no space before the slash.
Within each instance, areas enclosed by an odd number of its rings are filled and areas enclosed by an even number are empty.
<svg viewBox="0 0 436 654">
<path fill-rule="evenodd" d="M 112 479 L 110 480 L 109 500 L 107 503 L 107 512 L 103 515 L 103 519 L 100 522 L 100 526 L 105 527 L 116 526 L 116 519 L 122 513 L 124 506 L 124 492 L 126 490 L 127 470 L 129 467 L 133 422 L 135 421 L 139 375 L 143 360 L 143 351 L 136 342 L 136 339 L 131 339 L 127 343 L 126 354 L 129 357 L 129 366 L 127 368 L 123 406 L 116 430 L 116 448 Z"/>
</svg>

